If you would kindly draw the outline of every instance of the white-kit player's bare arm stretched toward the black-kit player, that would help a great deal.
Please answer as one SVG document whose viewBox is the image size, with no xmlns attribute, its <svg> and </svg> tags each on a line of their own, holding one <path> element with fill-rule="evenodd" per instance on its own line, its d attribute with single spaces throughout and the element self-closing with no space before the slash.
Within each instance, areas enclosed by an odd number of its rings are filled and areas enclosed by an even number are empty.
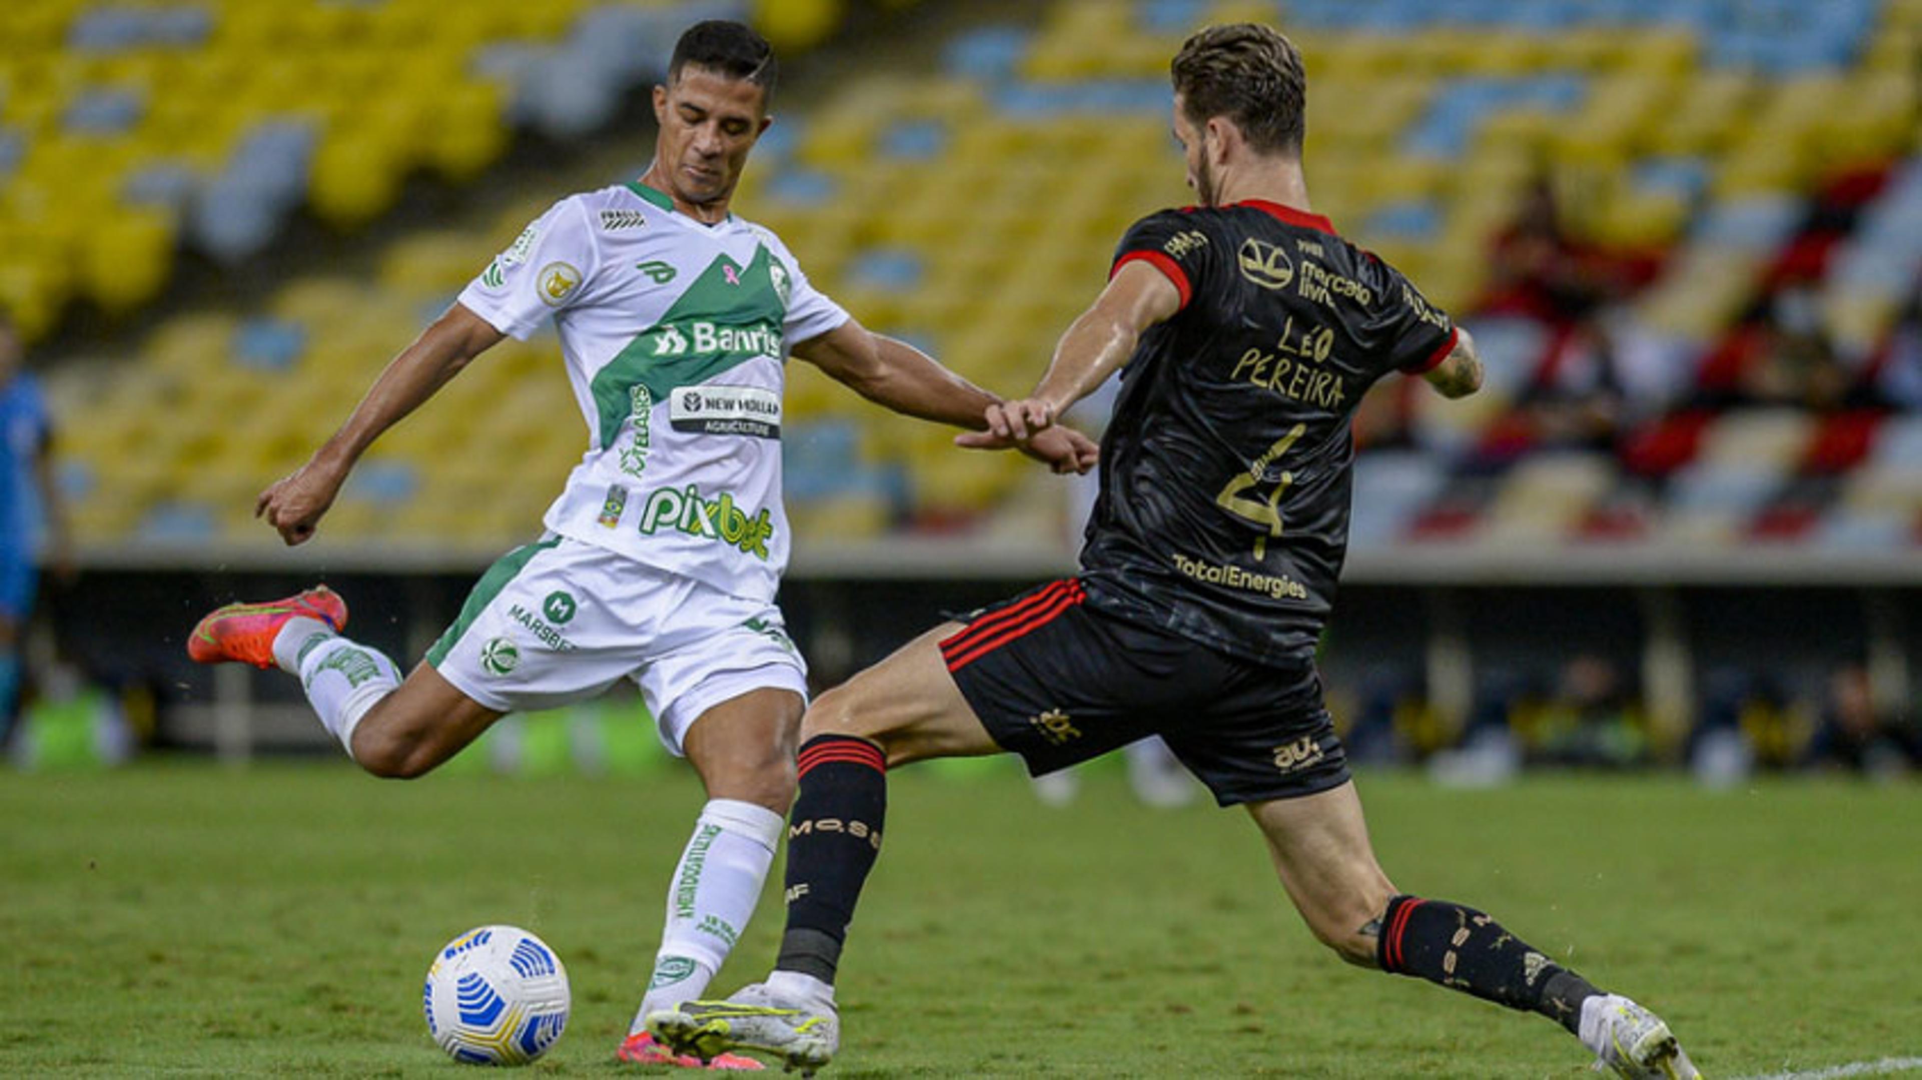
<svg viewBox="0 0 1922 1080">
<path fill-rule="evenodd" d="M 850 319 L 794 346 L 794 356 L 826 371 L 855 394 L 898 413 L 978 430 L 1001 400 L 946 369 L 915 346 L 876 334 Z M 1009 444 L 1011 446 L 1011 444 Z M 1086 434 L 1059 434 L 1023 446 L 1055 473 L 1086 473 L 1097 448 Z"/>
</svg>

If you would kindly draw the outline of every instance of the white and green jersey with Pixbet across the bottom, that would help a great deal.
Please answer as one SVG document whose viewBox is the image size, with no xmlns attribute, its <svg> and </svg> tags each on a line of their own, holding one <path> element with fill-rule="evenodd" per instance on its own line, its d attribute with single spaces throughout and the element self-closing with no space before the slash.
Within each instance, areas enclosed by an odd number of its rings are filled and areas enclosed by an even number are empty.
<svg viewBox="0 0 1922 1080">
<path fill-rule="evenodd" d="M 554 204 L 459 302 L 521 340 L 554 315 L 590 442 L 550 530 L 773 600 L 786 346 L 848 321 L 780 238 L 621 184 Z"/>
</svg>

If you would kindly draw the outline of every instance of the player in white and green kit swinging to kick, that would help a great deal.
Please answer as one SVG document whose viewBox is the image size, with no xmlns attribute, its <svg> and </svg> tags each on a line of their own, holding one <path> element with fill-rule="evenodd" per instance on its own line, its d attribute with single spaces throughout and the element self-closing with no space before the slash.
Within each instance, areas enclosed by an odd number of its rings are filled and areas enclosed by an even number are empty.
<svg viewBox="0 0 1922 1080">
<path fill-rule="evenodd" d="M 982 429 L 998 402 L 863 329 L 773 233 L 728 211 L 771 123 L 773 85 L 773 50 L 752 29 L 688 29 L 653 90 L 661 131 L 648 171 L 554 204 L 394 357 L 304 467 L 261 492 L 258 515 L 286 544 L 309 540 L 381 432 L 502 336 L 554 319 L 590 446 L 548 507 L 544 538 L 494 563 L 406 680 L 379 650 L 340 636 L 346 603 L 325 586 L 221 607 L 188 644 L 202 663 L 298 675 L 327 730 L 377 776 L 419 776 L 504 713 L 632 678 L 709 799 L 671 878 L 627 1061 L 700 1065 L 653 1043 L 642 1020 L 702 995 L 753 913 L 794 799 L 807 682 L 775 605 L 788 557 L 786 354 L 863 398 L 955 427 Z M 1094 442 L 1051 430 L 1034 457 L 1057 473 L 1094 465 Z"/>
</svg>

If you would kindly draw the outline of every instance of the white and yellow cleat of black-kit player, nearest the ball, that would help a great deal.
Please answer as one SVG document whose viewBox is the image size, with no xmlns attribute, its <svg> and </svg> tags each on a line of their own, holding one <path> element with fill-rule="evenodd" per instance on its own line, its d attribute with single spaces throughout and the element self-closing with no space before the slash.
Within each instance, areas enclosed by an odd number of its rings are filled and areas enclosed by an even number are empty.
<svg viewBox="0 0 1922 1080">
<path fill-rule="evenodd" d="M 801 1076 L 834 1059 L 840 1019 L 832 1005 L 813 1005 L 776 995 L 753 982 L 727 1001 L 682 1001 L 648 1013 L 648 1030 L 677 1053 L 711 1059 L 730 1049 L 775 1055 Z"/>
</svg>

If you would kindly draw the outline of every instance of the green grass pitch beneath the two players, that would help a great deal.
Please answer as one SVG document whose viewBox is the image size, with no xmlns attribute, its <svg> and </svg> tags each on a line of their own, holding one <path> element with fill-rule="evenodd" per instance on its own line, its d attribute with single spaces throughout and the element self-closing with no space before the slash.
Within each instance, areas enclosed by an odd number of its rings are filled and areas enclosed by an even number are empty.
<svg viewBox="0 0 1922 1080">
<path fill-rule="evenodd" d="M 1365 774 L 1411 892 L 1488 909 L 1659 1009 L 1718 1078 L 1922 1053 L 1922 788 Z M 0 774 L 0 1074 L 461 1076 L 431 953 L 542 934 L 575 1011 L 534 1072 L 646 1072 L 638 1003 L 700 790 L 346 765 Z M 1540 1017 L 1343 967 L 1240 811 L 1065 809 L 1011 769 L 903 771 L 842 969 L 825 1076 L 1588 1076 Z M 757 978 L 778 869 L 717 990 Z"/>
</svg>

